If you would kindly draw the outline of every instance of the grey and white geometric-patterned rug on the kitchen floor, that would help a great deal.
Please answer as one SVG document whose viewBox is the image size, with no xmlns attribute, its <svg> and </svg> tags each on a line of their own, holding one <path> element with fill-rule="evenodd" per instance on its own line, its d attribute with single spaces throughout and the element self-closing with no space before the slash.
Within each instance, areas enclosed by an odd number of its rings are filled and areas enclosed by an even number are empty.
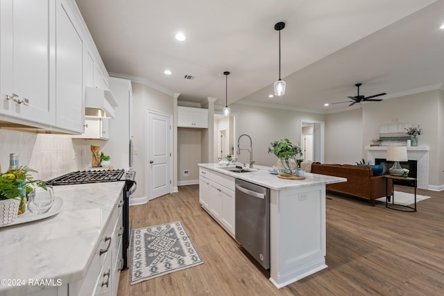
<svg viewBox="0 0 444 296">
<path fill-rule="evenodd" d="M 202 263 L 180 221 L 133 231 L 130 285 Z"/>
</svg>

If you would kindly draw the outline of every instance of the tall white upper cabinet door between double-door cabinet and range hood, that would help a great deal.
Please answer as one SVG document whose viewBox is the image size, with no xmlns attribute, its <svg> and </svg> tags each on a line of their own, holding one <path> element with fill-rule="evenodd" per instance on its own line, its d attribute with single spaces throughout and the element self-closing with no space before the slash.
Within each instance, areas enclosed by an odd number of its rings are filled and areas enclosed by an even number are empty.
<svg viewBox="0 0 444 296">
<path fill-rule="evenodd" d="M 56 8 L 56 125 L 83 132 L 83 39 L 66 1 Z"/>
</svg>

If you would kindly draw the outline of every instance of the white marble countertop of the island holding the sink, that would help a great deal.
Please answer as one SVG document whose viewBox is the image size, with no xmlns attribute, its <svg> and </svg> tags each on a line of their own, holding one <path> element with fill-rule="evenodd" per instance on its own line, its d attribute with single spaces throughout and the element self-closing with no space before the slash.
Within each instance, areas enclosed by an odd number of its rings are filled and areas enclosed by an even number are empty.
<svg viewBox="0 0 444 296">
<path fill-rule="evenodd" d="M 253 166 L 253 172 L 248 173 L 234 173 L 230 172 L 223 167 L 226 167 L 225 164 L 198 164 L 198 166 L 202 168 L 208 168 L 212 171 L 216 171 L 219 173 L 223 173 L 225 175 L 230 175 L 232 177 L 245 180 L 248 182 L 252 182 L 269 189 L 273 190 L 282 190 L 282 189 L 291 189 L 298 187 L 308 187 L 308 186 L 316 186 L 321 184 L 332 184 L 339 182 L 347 182 L 347 179 L 343 177 L 334 177 L 329 175 L 319 175 L 314 173 L 305 173 L 304 180 L 284 180 L 279 178 L 277 175 L 273 175 L 268 172 L 271 167 L 269 166 Z M 232 165 L 234 166 L 234 165 Z"/>
</svg>

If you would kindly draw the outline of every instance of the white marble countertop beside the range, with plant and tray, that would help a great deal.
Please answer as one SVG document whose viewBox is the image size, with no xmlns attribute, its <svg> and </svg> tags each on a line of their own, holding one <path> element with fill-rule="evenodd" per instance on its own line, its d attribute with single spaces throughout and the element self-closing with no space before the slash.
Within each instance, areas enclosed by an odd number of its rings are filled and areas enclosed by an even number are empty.
<svg viewBox="0 0 444 296">
<path fill-rule="evenodd" d="M 124 184 L 54 186 L 54 195 L 63 200 L 60 213 L 0 228 L 0 295 L 44 288 L 28 286 L 28 279 L 53 279 L 62 285 L 83 279 Z M 4 285 L 3 279 L 18 279 L 26 286 Z"/>
</svg>

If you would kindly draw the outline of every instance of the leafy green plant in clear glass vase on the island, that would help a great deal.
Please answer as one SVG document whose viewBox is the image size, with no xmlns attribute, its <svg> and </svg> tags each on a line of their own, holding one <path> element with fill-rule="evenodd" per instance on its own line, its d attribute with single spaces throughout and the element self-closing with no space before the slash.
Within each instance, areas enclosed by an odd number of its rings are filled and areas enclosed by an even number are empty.
<svg viewBox="0 0 444 296">
<path fill-rule="evenodd" d="M 279 158 L 278 169 L 281 175 L 294 175 L 296 168 L 302 162 L 302 149 L 298 145 L 293 145 L 289 139 L 273 141 L 268 146 L 268 153 L 273 153 Z"/>
</svg>

